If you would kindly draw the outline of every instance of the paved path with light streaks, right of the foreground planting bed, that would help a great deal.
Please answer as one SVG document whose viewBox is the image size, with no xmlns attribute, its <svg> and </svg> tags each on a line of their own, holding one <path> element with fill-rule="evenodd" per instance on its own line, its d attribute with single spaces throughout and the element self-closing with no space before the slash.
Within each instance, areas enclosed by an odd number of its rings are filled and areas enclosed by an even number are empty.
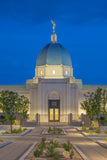
<svg viewBox="0 0 107 160">
<path fill-rule="evenodd" d="M 107 149 L 84 137 L 76 129 L 66 129 L 67 136 L 88 158 L 88 160 L 107 160 Z"/>
</svg>

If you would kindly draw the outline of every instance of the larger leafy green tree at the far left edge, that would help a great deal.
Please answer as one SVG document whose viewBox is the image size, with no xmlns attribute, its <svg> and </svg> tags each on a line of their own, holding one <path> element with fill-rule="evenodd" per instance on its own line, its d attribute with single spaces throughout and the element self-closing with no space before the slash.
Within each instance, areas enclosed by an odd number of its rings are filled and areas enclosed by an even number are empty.
<svg viewBox="0 0 107 160">
<path fill-rule="evenodd" d="M 0 109 L 5 115 L 5 119 L 10 123 L 10 131 L 12 133 L 12 125 L 16 119 L 16 105 L 18 94 L 13 91 L 0 92 Z"/>
</svg>

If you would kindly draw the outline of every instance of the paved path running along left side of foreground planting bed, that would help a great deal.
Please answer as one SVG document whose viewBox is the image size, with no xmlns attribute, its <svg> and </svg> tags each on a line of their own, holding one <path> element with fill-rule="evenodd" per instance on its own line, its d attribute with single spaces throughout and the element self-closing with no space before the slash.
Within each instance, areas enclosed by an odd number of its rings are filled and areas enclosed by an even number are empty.
<svg viewBox="0 0 107 160">
<path fill-rule="evenodd" d="M 35 128 L 25 136 L 17 138 L 13 143 L 0 149 L 0 160 L 18 160 L 35 142 L 40 141 L 42 127 Z"/>
</svg>

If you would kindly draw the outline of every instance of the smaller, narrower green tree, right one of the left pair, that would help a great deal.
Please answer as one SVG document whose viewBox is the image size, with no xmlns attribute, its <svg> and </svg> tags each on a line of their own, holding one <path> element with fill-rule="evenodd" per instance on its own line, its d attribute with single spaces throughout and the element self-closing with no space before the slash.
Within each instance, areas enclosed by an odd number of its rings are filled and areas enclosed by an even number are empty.
<svg viewBox="0 0 107 160">
<path fill-rule="evenodd" d="M 18 96 L 17 100 L 17 113 L 20 116 L 20 129 L 21 129 L 21 122 L 22 120 L 28 117 L 28 110 L 29 110 L 29 99 L 25 96 Z"/>
</svg>

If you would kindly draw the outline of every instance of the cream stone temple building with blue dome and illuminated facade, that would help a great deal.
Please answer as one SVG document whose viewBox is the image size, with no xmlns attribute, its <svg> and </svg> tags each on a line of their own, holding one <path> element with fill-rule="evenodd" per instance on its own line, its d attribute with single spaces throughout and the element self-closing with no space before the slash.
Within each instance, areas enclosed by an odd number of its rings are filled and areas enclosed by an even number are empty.
<svg viewBox="0 0 107 160">
<path fill-rule="evenodd" d="M 107 89 L 107 85 L 83 85 L 73 76 L 70 54 L 57 43 L 53 31 L 51 42 L 38 55 L 34 78 L 25 85 L 0 85 L 0 90 L 12 90 L 29 98 L 29 121 L 35 121 L 39 114 L 40 123 L 68 123 L 70 113 L 74 120 L 84 113 L 80 105 L 84 93 L 98 87 Z"/>
</svg>

